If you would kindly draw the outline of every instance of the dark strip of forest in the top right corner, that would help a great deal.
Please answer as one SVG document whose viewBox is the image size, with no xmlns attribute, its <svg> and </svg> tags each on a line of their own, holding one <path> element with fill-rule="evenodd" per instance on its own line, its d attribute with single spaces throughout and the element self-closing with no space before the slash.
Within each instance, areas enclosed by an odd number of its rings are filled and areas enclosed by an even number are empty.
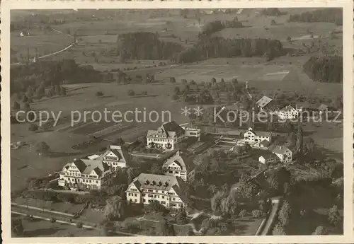
<svg viewBox="0 0 354 244">
<path fill-rule="evenodd" d="M 289 22 L 331 22 L 343 25 L 341 8 L 324 8 L 299 14 L 291 14 Z"/>
</svg>

